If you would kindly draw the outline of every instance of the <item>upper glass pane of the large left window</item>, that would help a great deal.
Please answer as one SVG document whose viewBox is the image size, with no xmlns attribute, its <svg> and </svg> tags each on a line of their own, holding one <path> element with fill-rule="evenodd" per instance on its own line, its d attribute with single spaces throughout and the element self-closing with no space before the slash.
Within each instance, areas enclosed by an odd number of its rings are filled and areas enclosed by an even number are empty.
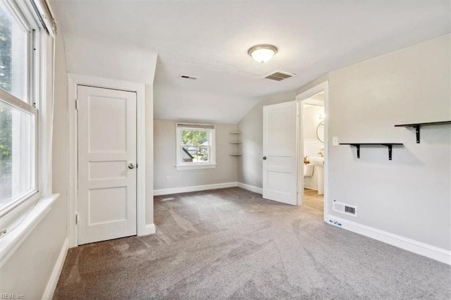
<svg viewBox="0 0 451 300">
<path fill-rule="evenodd" d="M 26 99 L 27 31 L 8 6 L 0 6 L 0 87 L 17 98 Z"/>
</svg>

